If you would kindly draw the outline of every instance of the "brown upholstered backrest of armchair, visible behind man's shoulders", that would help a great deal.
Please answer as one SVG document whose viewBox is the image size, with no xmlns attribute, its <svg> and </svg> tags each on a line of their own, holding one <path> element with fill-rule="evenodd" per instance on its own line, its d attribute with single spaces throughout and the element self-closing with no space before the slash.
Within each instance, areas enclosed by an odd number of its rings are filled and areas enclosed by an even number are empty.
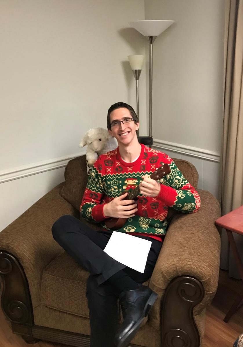
<svg viewBox="0 0 243 347">
<path fill-rule="evenodd" d="M 185 178 L 197 188 L 198 173 L 195 166 L 183 159 L 173 159 Z M 88 174 L 86 167 L 86 155 L 71 159 L 66 166 L 65 184 L 60 191 L 62 197 L 79 211 L 83 193 L 87 185 Z"/>
</svg>

